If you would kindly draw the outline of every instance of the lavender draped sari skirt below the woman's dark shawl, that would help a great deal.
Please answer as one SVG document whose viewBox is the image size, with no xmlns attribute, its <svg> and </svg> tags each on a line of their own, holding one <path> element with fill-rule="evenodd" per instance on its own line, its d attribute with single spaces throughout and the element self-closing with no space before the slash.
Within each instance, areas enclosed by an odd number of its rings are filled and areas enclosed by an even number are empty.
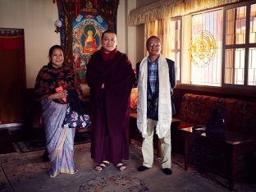
<svg viewBox="0 0 256 192">
<path fill-rule="evenodd" d="M 59 173 L 74 174 L 74 137 L 75 129 L 62 127 L 66 117 L 67 104 L 55 103 L 44 98 L 41 101 L 46 147 L 51 161 L 50 176 Z"/>
</svg>

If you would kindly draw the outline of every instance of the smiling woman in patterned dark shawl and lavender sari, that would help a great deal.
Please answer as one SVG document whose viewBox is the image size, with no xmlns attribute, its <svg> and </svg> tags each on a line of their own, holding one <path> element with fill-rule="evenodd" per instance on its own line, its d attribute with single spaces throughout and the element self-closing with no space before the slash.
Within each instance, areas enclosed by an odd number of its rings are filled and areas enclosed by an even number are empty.
<svg viewBox="0 0 256 192">
<path fill-rule="evenodd" d="M 75 71 L 64 63 L 63 49 L 59 45 L 50 48 L 49 62 L 37 75 L 34 85 L 35 98 L 41 103 L 46 147 L 51 162 L 50 177 L 59 173 L 75 174 L 74 137 L 75 129 L 63 127 L 68 105 L 67 91 L 82 91 Z"/>
</svg>

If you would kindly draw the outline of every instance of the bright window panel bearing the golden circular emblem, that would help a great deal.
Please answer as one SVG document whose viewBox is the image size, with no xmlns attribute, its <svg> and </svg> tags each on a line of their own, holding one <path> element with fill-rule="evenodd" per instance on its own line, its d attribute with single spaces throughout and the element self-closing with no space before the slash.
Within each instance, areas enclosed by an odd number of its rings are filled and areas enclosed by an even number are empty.
<svg viewBox="0 0 256 192">
<path fill-rule="evenodd" d="M 185 45 L 185 52 L 189 54 L 183 67 L 190 63 L 191 85 L 221 86 L 222 77 L 222 10 L 214 10 L 195 14 L 190 17 L 190 43 Z M 184 73 L 183 73 L 184 74 Z"/>
</svg>

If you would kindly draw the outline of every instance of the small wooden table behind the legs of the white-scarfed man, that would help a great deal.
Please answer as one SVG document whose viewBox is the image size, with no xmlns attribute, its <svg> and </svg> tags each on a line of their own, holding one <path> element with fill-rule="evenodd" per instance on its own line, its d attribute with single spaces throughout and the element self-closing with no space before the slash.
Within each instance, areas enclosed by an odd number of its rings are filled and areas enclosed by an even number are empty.
<svg viewBox="0 0 256 192">
<path fill-rule="evenodd" d="M 171 149 L 177 150 L 177 136 L 176 133 L 178 131 L 178 126 L 180 125 L 181 120 L 177 118 L 171 119 Z M 142 136 L 141 133 L 139 133 L 139 130 L 137 128 L 137 113 L 131 112 L 130 113 L 130 139 L 136 139 L 142 142 Z M 158 135 L 154 133 L 154 145 L 156 145 L 157 149 L 157 156 L 158 158 L 161 158 L 161 141 L 158 139 Z"/>
</svg>

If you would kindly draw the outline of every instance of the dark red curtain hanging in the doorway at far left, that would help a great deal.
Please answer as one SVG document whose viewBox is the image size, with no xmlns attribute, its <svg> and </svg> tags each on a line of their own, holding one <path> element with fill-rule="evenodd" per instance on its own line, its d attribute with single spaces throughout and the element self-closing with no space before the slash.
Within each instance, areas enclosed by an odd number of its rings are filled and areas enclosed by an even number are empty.
<svg viewBox="0 0 256 192">
<path fill-rule="evenodd" d="M 0 124 L 22 121 L 25 93 L 24 30 L 0 28 Z"/>
</svg>

